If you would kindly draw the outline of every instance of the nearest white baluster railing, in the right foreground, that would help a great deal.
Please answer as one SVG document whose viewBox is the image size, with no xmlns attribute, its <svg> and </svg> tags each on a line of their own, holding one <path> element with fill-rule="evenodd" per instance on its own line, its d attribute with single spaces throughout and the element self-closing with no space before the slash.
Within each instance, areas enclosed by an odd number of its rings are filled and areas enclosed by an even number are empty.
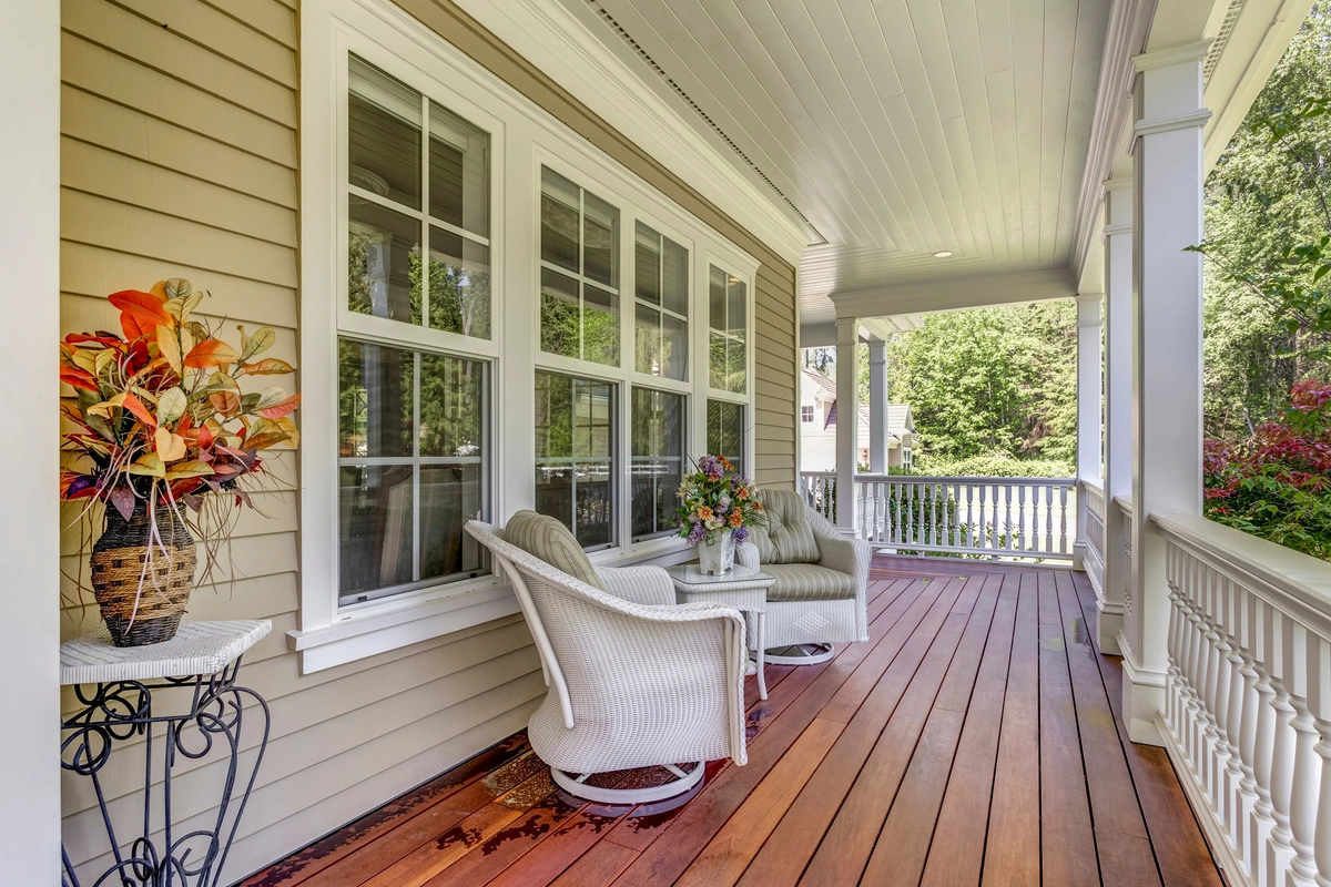
<svg viewBox="0 0 1331 887">
<path fill-rule="evenodd" d="M 1202 517 L 1153 523 L 1170 600 L 1161 733 L 1229 880 L 1328 884 L 1331 565 Z"/>
</svg>

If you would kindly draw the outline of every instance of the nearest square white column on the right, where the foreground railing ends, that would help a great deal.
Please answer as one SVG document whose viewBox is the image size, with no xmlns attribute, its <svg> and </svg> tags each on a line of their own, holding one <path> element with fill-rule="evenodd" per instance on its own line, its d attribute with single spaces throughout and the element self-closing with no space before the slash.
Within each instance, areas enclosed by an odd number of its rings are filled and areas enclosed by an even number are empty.
<svg viewBox="0 0 1331 887">
<path fill-rule="evenodd" d="M 1123 717 L 1134 742 L 1161 743 L 1169 586 L 1159 512 L 1202 512 L 1202 57 L 1209 40 L 1138 56 L 1137 347 L 1133 569 Z"/>
</svg>

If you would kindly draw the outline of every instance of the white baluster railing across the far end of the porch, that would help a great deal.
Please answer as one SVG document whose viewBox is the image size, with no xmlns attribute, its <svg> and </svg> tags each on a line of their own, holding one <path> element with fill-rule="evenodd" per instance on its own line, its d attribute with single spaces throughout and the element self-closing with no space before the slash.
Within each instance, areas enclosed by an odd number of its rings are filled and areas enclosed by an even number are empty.
<svg viewBox="0 0 1331 887">
<path fill-rule="evenodd" d="M 801 479 L 809 505 L 833 520 L 836 475 Z M 909 552 L 1071 560 L 1075 489 L 1070 477 L 856 475 L 857 535 Z"/>
</svg>

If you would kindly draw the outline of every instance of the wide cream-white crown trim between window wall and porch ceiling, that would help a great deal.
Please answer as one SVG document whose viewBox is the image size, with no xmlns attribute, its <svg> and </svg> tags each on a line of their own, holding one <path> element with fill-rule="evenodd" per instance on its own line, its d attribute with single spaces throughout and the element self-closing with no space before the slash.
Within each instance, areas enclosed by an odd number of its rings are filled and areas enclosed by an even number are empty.
<svg viewBox="0 0 1331 887">
<path fill-rule="evenodd" d="M 736 168 L 719 138 L 713 144 L 700 134 L 563 5 L 538 0 L 457 3 L 783 259 L 799 266 L 809 237 L 788 215 L 789 207 Z"/>
</svg>

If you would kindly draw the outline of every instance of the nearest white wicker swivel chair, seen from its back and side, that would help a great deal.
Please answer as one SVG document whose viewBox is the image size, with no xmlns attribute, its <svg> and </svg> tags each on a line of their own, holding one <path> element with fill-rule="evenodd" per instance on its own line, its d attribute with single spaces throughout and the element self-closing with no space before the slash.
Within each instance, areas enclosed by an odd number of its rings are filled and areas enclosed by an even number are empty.
<svg viewBox="0 0 1331 887">
<path fill-rule="evenodd" d="M 606 593 L 508 544 L 490 524 L 469 521 L 467 532 L 512 584 L 540 652 L 550 690 L 527 737 L 560 789 L 598 803 L 650 803 L 697 785 L 707 761 L 745 763 L 739 610 L 676 605 L 659 567 L 598 569 Z M 648 766 L 675 779 L 650 789 L 588 782 Z"/>
</svg>

